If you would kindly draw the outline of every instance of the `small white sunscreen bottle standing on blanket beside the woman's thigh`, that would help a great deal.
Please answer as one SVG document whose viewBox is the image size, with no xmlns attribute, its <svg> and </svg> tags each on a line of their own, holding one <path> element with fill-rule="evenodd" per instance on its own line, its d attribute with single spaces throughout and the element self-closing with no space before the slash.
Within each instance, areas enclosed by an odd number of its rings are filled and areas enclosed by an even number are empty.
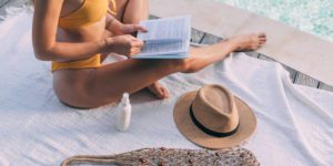
<svg viewBox="0 0 333 166">
<path fill-rule="evenodd" d="M 125 132 L 130 127 L 131 112 L 132 106 L 129 93 L 124 93 L 117 110 L 117 129 L 119 132 Z"/>
</svg>

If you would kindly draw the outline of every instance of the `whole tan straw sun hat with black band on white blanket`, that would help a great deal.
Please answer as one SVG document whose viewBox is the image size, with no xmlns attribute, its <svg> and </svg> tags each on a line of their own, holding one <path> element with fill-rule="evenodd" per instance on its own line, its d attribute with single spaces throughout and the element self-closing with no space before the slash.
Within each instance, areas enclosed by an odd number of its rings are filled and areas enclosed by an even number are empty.
<svg viewBox="0 0 333 166">
<path fill-rule="evenodd" d="M 205 85 L 182 95 L 173 118 L 189 141 L 213 149 L 239 145 L 256 127 L 251 107 L 220 85 Z"/>
</svg>

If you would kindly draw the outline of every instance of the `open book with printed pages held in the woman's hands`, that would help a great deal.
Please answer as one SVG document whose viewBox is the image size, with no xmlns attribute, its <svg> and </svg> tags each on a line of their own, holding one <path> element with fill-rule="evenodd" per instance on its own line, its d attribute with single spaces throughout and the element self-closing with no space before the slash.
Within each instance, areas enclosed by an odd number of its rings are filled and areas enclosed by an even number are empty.
<svg viewBox="0 0 333 166">
<path fill-rule="evenodd" d="M 141 21 L 148 29 L 139 32 L 144 42 L 142 51 L 134 59 L 184 59 L 188 58 L 191 38 L 191 17 L 182 15 Z"/>
</svg>

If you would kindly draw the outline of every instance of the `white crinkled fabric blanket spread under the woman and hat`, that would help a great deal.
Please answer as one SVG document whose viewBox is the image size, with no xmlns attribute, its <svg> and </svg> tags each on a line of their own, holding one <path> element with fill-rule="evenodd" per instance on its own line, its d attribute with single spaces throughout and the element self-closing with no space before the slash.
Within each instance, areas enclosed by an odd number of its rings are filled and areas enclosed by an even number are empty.
<svg viewBox="0 0 333 166">
<path fill-rule="evenodd" d="M 333 165 L 333 94 L 294 85 L 279 63 L 231 54 L 195 74 L 162 80 L 171 98 L 131 96 L 127 133 L 114 127 L 112 105 L 80 111 L 61 104 L 50 63 L 34 59 L 29 9 L 0 23 L 0 165 L 59 165 L 72 155 L 111 155 L 143 147 L 200 148 L 173 123 L 178 97 L 221 84 L 254 110 L 258 129 L 244 145 L 263 165 Z"/>
</svg>

